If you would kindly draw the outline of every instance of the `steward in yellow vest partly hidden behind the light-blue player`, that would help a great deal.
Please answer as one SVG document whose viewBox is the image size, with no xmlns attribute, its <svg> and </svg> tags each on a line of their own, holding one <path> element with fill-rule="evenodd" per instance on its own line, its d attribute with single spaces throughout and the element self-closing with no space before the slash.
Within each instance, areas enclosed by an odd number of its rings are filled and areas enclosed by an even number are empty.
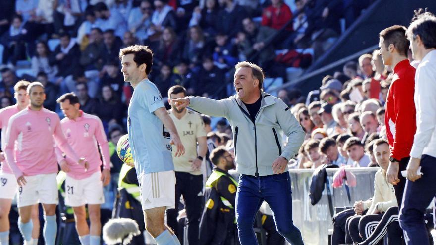
<svg viewBox="0 0 436 245">
<path fill-rule="evenodd" d="M 118 179 L 118 196 L 112 218 L 129 218 L 138 223 L 139 230 L 145 230 L 138 177 L 134 167 L 123 164 Z M 130 244 L 145 244 L 143 234 L 133 237 Z"/>
</svg>

